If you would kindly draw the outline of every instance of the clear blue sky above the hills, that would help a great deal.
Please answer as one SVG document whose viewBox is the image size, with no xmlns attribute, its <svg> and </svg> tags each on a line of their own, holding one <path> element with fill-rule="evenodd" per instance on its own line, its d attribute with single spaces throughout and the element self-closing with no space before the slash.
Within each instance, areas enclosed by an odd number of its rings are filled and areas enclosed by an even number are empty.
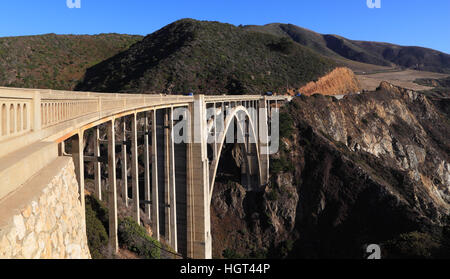
<svg viewBox="0 0 450 279">
<path fill-rule="evenodd" d="M 449 0 L 66 0 L 0 1 L 0 36 L 128 33 L 146 35 L 190 17 L 239 24 L 292 23 L 350 39 L 418 45 L 450 53 Z"/>
</svg>

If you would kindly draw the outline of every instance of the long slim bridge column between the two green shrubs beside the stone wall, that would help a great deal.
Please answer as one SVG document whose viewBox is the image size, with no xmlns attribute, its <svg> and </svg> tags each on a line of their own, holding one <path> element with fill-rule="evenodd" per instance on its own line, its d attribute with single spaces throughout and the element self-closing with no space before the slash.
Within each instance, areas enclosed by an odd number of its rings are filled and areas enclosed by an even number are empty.
<svg viewBox="0 0 450 279">
<path fill-rule="evenodd" d="M 111 254 L 119 251 L 117 238 L 117 185 L 116 185 L 116 141 L 114 119 L 107 122 L 108 135 L 108 212 L 109 212 L 109 249 Z"/>
</svg>

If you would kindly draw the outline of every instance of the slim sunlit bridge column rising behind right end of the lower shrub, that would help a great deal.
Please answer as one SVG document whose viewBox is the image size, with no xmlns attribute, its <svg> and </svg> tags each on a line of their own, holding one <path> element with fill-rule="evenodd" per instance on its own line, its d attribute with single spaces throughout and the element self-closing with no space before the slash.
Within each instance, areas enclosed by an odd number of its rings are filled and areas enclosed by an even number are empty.
<svg viewBox="0 0 450 279">
<path fill-rule="evenodd" d="M 152 230 L 159 241 L 158 145 L 156 144 L 156 110 L 152 111 Z"/>
</svg>

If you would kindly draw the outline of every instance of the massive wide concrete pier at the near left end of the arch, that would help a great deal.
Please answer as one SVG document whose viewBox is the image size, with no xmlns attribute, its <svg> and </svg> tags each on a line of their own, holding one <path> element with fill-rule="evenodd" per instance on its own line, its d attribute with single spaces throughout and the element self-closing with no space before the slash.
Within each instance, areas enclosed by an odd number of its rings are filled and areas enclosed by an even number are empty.
<svg viewBox="0 0 450 279">
<path fill-rule="evenodd" d="M 187 146 L 187 252 L 191 258 L 211 258 L 211 220 L 209 165 L 206 143 L 206 108 L 203 95 L 196 95 L 189 105 L 190 143 Z"/>
</svg>

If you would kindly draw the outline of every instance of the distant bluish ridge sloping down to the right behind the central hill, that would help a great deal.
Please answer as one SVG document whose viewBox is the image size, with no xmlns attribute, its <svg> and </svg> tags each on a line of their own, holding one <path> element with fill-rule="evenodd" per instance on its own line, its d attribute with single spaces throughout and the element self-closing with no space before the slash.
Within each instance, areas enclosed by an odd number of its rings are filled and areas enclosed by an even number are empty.
<svg viewBox="0 0 450 279">
<path fill-rule="evenodd" d="M 264 26 L 248 25 L 243 28 L 292 38 L 297 43 L 353 69 L 361 68 L 361 65 L 351 61 L 450 73 L 450 55 L 428 48 L 354 41 L 337 35 L 322 35 L 292 24 L 272 23 Z"/>
</svg>

